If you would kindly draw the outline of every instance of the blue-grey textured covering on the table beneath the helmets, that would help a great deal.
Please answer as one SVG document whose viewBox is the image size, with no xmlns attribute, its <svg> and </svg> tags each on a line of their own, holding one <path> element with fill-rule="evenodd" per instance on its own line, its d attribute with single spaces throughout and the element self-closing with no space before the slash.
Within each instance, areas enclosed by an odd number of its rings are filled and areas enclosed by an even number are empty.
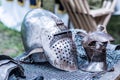
<svg viewBox="0 0 120 80">
<path fill-rule="evenodd" d="M 77 50 L 79 52 L 79 56 L 78 56 L 79 66 L 87 62 L 86 54 L 84 52 L 82 44 L 80 43 L 81 39 L 82 37 L 79 35 L 77 35 L 75 38 Z M 113 44 L 109 44 L 107 46 L 106 57 L 107 57 L 108 67 L 119 65 L 117 64 L 117 62 L 120 61 L 120 50 L 115 51 L 115 47 L 116 45 L 113 45 Z M 43 63 L 39 63 L 39 64 L 21 63 L 21 65 L 24 67 L 25 75 L 26 75 L 26 79 L 21 79 L 21 80 L 34 80 L 38 76 L 43 76 L 44 80 L 99 80 L 102 77 L 104 77 L 104 79 L 101 79 L 101 80 L 106 80 L 106 77 L 109 78 L 110 75 L 115 75 L 114 73 L 120 74 L 119 66 L 118 66 L 118 69 L 115 70 L 114 72 L 106 72 L 105 74 L 101 75 L 102 73 L 98 74 L 98 73 L 83 72 L 80 69 L 75 72 L 61 71 L 59 69 L 52 67 L 49 63 L 44 63 L 44 64 Z M 106 74 L 109 74 L 109 73 L 111 74 L 109 76 L 108 75 L 106 76 Z"/>
</svg>

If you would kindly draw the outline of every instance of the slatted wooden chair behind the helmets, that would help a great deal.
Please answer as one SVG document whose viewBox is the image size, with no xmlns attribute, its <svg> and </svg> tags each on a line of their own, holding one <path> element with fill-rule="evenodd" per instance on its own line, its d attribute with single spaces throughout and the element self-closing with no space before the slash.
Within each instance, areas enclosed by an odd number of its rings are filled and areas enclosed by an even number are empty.
<svg viewBox="0 0 120 80">
<path fill-rule="evenodd" d="M 104 0 L 100 9 L 91 10 L 87 0 L 60 0 L 75 28 L 93 32 L 98 25 L 106 26 L 114 12 L 116 0 Z"/>
</svg>

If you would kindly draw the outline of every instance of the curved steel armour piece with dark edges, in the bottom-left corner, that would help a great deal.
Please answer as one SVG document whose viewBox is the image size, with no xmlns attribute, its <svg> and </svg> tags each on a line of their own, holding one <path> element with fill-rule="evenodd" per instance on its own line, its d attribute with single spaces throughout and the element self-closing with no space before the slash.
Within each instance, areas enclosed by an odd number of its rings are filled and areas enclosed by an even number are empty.
<svg viewBox="0 0 120 80">
<path fill-rule="evenodd" d="M 24 70 L 9 56 L 0 55 L 0 80 L 9 80 L 12 75 L 24 78 Z"/>
</svg>

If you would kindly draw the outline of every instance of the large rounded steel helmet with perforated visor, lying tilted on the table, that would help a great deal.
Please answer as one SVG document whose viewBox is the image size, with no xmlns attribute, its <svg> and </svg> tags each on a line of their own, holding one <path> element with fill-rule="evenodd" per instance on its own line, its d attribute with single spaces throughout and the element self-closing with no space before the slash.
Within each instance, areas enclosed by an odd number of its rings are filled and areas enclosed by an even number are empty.
<svg viewBox="0 0 120 80">
<path fill-rule="evenodd" d="M 47 59 L 52 66 L 65 71 L 78 69 L 77 51 L 72 40 L 72 32 L 55 14 L 44 9 L 28 12 L 23 20 L 21 34 L 28 55 L 29 50 L 42 48 L 46 58 L 41 57 L 41 62 Z"/>
</svg>

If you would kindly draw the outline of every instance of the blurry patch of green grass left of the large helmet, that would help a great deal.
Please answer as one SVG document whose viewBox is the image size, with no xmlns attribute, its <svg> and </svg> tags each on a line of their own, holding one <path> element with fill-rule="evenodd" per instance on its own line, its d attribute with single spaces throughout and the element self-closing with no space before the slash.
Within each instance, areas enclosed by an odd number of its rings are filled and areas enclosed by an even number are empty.
<svg viewBox="0 0 120 80">
<path fill-rule="evenodd" d="M 0 54 L 15 57 L 23 51 L 20 32 L 9 29 L 0 23 Z"/>
</svg>

